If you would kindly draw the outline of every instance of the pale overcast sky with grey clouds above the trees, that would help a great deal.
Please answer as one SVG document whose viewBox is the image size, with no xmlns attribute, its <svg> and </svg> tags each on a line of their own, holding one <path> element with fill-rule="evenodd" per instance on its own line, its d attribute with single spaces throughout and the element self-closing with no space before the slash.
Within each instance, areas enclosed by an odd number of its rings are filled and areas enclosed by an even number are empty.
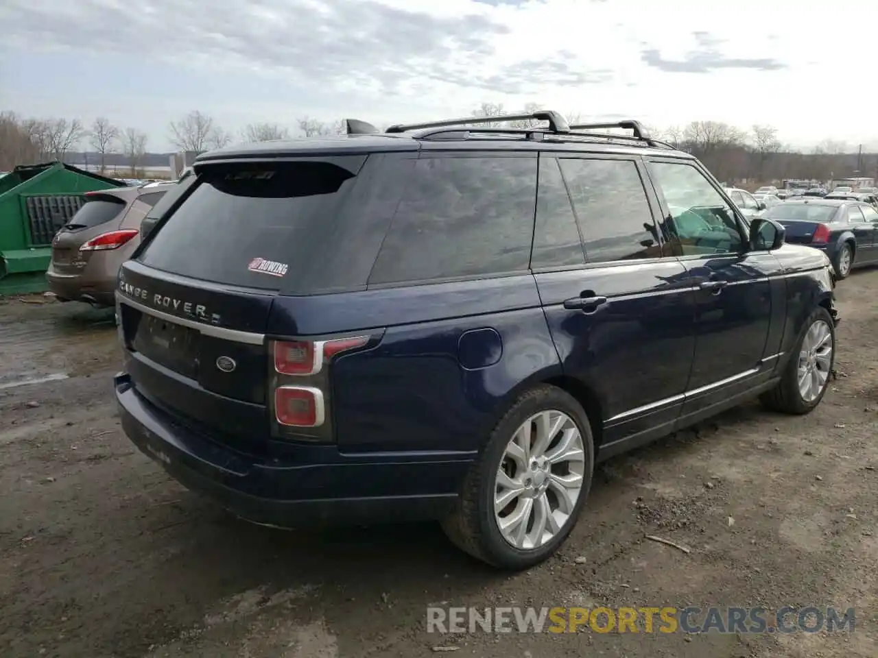
<svg viewBox="0 0 878 658">
<path fill-rule="evenodd" d="M 878 146 L 861 0 L 2 0 L 0 25 L 0 110 L 104 115 L 152 151 L 194 109 L 237 131 L 482 102 Z"/>
</svg>

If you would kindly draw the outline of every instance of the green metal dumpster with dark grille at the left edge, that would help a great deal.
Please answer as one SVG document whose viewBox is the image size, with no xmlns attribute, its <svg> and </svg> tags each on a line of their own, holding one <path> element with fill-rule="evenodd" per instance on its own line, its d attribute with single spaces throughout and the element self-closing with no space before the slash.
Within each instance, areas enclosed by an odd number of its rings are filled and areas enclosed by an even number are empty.
<svg viewBox="0 0 878 658">
<path fill-rule="evenodd" d="M 47 290 L 54 234 L 83 205 L 86 192 L 124 185 L 63 162 L 0 176 L 0 296 Z"/>
</svg>

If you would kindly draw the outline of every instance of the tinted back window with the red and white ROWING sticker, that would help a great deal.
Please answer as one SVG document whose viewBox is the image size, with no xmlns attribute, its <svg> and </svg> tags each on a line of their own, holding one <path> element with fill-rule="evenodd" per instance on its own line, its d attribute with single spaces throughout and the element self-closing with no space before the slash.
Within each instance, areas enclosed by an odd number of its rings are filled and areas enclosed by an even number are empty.
<svg viewBox="0 0 878 658">
<path fill-rule="evenodd" d="M 361 161 L 207 167 L 139 259 L 212 283 L 281 290 L 288 268 L 307 260 L 332 224 Z"/>
</svg>

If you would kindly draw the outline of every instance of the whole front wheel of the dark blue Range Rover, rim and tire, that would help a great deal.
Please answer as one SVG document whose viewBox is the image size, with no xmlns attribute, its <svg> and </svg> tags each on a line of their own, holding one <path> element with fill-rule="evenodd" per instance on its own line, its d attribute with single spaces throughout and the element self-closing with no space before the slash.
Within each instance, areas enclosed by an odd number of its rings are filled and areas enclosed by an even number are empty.
<svg viewBox="0 0 878 658">
<path fill-rule="evenodd" d="M 790 356 L 781 382 L 759 399 L 766 408 L 808 413 L 823 399 L 835 362 L 835 325 L 829 311 L 818 306 Z"/>
</svg>

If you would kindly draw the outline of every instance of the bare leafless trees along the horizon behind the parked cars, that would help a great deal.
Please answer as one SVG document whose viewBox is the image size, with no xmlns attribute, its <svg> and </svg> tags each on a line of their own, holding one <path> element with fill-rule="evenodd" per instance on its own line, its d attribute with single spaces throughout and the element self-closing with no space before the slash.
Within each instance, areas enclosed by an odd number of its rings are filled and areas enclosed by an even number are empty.
<svg viewBox="0 0 878 658">
<path fill-rule="evenodd" d="M 539 109 L 528 104 L 524 113 Z M 473 117 L 491 118 L 510 111 L 502 104 L 483 103 Z M 565 114 L 579 123 L 579 112 Z M 538 125 L 534 119 L 489 122 L 488 125 L 523 128 Z M 382 127 L 382 126 L 379 126 Z M 851 175 L 878 174 L 878 154 L 862 154 L 844 142 L 824 139 L 807 151 L 784 146 L 772 125 L 752 125 L 749 130 L 720 121 L 693 121 L 679 126 L 647 126 L 651 135 L 698 157 L 710 171 L 729 184 L 781 181 L 784 178 L 828 180 Z M 174 147 L 202 153 L 225 147 L 234 141 L 255 142 L 343 134 L 343 120 L 295 119 L 294 127 L 283 123 L 254 123 L 237 132 L 219 125 L 209 114 L 193 110 L 168 124 L 167 138 Z M 148 135 L 135 127 L 115 125 L 98 117 L 90 125 L 79 118 L 22 118 L 11 111 L 0 112 L 0 170 L 20 164 L 64 161 L 68 154 L 87 145 L 98 154 L 104 171 L 108 154 L 123 154 L 132 174 L 141 168 L 147 154 Z"/>
</svg>

